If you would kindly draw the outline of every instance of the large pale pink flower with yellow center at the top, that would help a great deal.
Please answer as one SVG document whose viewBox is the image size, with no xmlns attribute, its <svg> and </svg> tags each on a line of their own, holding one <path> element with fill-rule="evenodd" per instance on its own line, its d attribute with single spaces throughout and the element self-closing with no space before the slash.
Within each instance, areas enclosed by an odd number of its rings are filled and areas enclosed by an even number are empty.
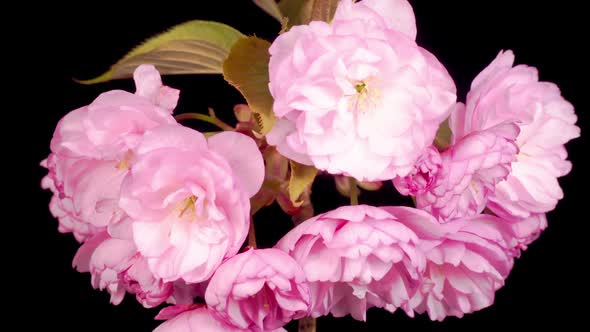
<svg viewBox="0 0 590 332">
<path fill-rule="evenodd" d="M 400 8 L 383 15 L 385 9 Z M 359 181 L 405 176 L 456 100 L 442 64 L 416 45 L 405 1 L 342 1 L 331 24 L 311 22 L 270 48 L 277 122 L 267 135 L 284 156 Z"/>
</svg>

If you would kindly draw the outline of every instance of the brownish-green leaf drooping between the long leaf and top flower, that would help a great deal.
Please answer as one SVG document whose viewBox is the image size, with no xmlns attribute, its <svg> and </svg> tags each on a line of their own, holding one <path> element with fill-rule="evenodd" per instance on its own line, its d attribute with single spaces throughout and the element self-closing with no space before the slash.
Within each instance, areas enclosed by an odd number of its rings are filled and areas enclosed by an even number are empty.
<svg viewBox="0 0 590 332">
<path fill-rule="evenodd" d="M 246 98 L 263 135 L 276 122 L 273 98 L 268 90 L 269 47 L 269 42 L 257 37 L 241 38 L 223 63 L 223 78 Z"/>
</svg>

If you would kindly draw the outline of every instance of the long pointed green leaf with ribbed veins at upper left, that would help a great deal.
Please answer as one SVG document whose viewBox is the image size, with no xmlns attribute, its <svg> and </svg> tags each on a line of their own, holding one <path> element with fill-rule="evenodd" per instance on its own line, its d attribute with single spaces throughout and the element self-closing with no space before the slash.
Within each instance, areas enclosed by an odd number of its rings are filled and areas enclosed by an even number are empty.
<svg viewBox="0 0 590 332">
<path fill-rule="evenodd" d="M 146 40 L 115 63 L 106 73 L 89 80 L 94 84 L 129 78 L 137 66 L 155 65 L 161 74 L 219 74 L 234 43 L 244 35 L 217 22 L 190 21 Z"/>
</svg>

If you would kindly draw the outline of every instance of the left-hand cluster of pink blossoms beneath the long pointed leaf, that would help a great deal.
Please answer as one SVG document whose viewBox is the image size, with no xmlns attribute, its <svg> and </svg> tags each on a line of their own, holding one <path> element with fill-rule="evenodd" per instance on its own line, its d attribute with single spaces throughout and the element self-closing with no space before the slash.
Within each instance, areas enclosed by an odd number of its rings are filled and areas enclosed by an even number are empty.
<svg viewBox="0 0 590 332">
<path fill-rule="evenodd" d="M 134 78 L 135 94 L 104 93 L 59 122 L 42 185 L 60 231 L 83 243 L 74 265 L 112 303 L 192 303 L 248 234 L 262 156 L 243 134 L 178 124 L 178 90 L 153 66 Z"/>
</svg>

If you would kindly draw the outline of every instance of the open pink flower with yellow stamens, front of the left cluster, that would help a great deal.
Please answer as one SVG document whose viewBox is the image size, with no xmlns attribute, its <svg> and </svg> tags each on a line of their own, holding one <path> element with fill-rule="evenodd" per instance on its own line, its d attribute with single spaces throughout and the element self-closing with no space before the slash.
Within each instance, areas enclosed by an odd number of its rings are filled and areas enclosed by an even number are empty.
<svg viewBox="0 0 590 332">
<path fill-rule="evenodd" d="M 235 132 L 209 139 L 164 125 L 135 150 L 119 205 L 150 270 L 164 281 L 198 283 L 238 252 L 250 222 L 249 197 L 264 178 L 256 143 Z"/>
</svg>

